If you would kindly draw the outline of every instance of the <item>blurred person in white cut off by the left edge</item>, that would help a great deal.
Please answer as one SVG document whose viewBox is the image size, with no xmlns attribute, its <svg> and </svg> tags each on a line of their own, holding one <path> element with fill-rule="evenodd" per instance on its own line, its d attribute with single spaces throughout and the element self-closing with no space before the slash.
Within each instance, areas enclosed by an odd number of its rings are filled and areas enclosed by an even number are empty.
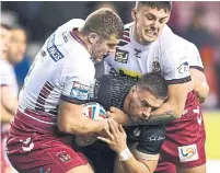
<svg viewBox="0 0 220 173">
<path fill-rule="evenodd" d="M 0 59 L 0 86 L 1 86 L 1 172 L 15 172 L 11 166 L 5 153 L 5 140 L 10 127 L 10 120 L 18 108 L 18 84 L 13 70 L 14 61 L 8 57 L 11 31 L 7 25 L 1 24 L 1 59 Z"/>
</svg>

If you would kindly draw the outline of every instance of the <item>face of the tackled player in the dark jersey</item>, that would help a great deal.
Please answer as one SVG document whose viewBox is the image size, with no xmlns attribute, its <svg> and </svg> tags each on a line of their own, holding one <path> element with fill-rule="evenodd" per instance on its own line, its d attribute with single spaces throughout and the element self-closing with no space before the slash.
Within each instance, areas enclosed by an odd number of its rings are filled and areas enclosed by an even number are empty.
<svg viewBox="0 0 220 173">
<path fill-rule="evenodd" d="M 148 119 L 151 111 L 160 107 L 165 99 L 158 99 L 152 93 L 135 86 L 129 105 L 129 115 L 136 123 Z"/>
</svg>

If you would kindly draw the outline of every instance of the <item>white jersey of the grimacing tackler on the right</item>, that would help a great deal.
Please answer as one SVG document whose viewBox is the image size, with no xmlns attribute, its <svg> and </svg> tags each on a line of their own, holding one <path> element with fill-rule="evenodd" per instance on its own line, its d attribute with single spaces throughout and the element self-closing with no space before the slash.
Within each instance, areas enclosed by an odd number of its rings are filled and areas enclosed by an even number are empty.
<svg viewBox="0 0 220 173">
<path fill-rule="evenodd" d="M 159 71 L 169 84 L 190 81 L 183 39 L 165 25 L 155 42 L 143 46 L 134 39 L 132 26 L 134 23 L 125 25 L 124 36 L 115 55 L 105 58 L 105 73 L 111 70 L 121 76 L 139 78 L 142 73 Z"/>
</svg>

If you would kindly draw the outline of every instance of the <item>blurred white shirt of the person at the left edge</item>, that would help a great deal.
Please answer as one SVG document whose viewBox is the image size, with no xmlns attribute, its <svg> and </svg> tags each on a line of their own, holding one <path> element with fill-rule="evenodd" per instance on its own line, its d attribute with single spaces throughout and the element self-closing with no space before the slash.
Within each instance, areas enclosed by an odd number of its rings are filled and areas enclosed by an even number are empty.
<svg viewBox="0 0 220 173">
<path fill-rule="evenodd" d="M 8 85 L 14 97 L 18 97 L 19 86 L 14 68 L 5 59 L 0 59 L 0 84 Z"/>
</svg>

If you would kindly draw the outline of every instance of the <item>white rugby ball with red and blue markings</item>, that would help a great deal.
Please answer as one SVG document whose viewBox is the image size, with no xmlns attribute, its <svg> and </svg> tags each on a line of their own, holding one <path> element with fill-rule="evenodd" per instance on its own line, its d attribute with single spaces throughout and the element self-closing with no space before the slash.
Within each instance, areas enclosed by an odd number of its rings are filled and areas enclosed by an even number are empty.
<svg viewBox="0 0 220 173">
<path fill-rule="evenodd" d="M 82 112 L 90 119 L 102 120 L 107 118 L 105 108 L 96 102 L 84 104 Z"/>
</svg>

